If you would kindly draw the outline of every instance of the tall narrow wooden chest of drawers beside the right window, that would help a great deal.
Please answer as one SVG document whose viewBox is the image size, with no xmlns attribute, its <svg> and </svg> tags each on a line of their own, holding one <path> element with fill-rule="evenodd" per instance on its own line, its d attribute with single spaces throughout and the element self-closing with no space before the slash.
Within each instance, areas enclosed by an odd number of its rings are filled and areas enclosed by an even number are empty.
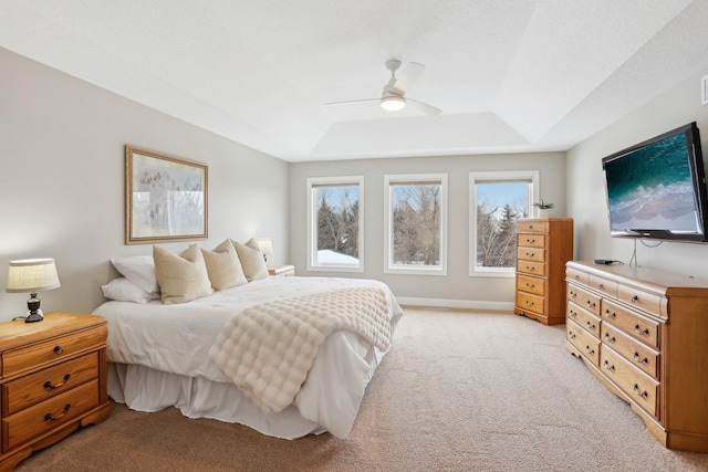
<svg viewBox="0 0 708 472">
<path fill-rule="evenodd" d="M 513 312 L 544 325 L 565 323 L 565 262 L 572 259 L 572 219 L 519 220 Z"/>
</svg>

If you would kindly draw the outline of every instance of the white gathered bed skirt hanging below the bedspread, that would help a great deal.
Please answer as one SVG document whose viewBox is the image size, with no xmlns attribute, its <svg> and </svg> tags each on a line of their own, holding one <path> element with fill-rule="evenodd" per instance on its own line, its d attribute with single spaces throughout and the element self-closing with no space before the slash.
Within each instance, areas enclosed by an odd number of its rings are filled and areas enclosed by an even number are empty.
<svg viewBox="0 0 708 472">
<path fill-rule="evenodd" d="M 108 363 L 108 396 L 132 410 L 154 412 L 176 407 L 188 418 L 246 424 L 277 438 L 295 439 L 325 432 L 322 426 L 304 419 L 293 405 L 279 413 L 266 413 L 233 384 L 144 366 Z"/>
</svg>

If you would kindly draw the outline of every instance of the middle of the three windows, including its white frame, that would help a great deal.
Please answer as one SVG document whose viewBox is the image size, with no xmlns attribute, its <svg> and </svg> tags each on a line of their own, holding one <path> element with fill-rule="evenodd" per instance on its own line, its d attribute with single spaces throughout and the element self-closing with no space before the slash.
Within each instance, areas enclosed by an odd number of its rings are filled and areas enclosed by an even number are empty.
<svg viewBox="0 0 708 472">
<path fill-rule="evenodd" d="M 384 176 L 384 272 L 447 274 L 447 175 Z"/>
</svg>

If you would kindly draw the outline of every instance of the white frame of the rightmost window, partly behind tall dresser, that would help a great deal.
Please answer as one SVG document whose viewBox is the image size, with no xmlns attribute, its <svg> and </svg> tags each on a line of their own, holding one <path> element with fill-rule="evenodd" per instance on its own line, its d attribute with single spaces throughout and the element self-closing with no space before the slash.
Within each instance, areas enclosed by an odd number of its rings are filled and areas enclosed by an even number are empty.
<svg viewBox="0 0 708 472">
<path fill-rule="evenodd" d="M 469 276 L 507 277 L 516 276 L 516 268 L 478 268 L 477 266 L 477 182 L 483 181 L 531 181 L 529 190 L 529 214 L 532 214 L 533 202 L 539 201 L 539 171 L 538 170 L 501 170 L 469 172 Z"/>
</svg>

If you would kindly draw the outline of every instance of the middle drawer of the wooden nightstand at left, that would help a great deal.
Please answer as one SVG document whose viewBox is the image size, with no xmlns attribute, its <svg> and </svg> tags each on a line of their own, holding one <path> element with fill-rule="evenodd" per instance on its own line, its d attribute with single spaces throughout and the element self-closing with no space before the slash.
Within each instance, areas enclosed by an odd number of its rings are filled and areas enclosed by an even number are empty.
<svg viewBox="0 0 708 472">
<path fill-rule="evenodd" d="M 2 385 L 2 416 L 62 394 L 98 376 L 98 354 L 92 353 Z"/>
</svg>

